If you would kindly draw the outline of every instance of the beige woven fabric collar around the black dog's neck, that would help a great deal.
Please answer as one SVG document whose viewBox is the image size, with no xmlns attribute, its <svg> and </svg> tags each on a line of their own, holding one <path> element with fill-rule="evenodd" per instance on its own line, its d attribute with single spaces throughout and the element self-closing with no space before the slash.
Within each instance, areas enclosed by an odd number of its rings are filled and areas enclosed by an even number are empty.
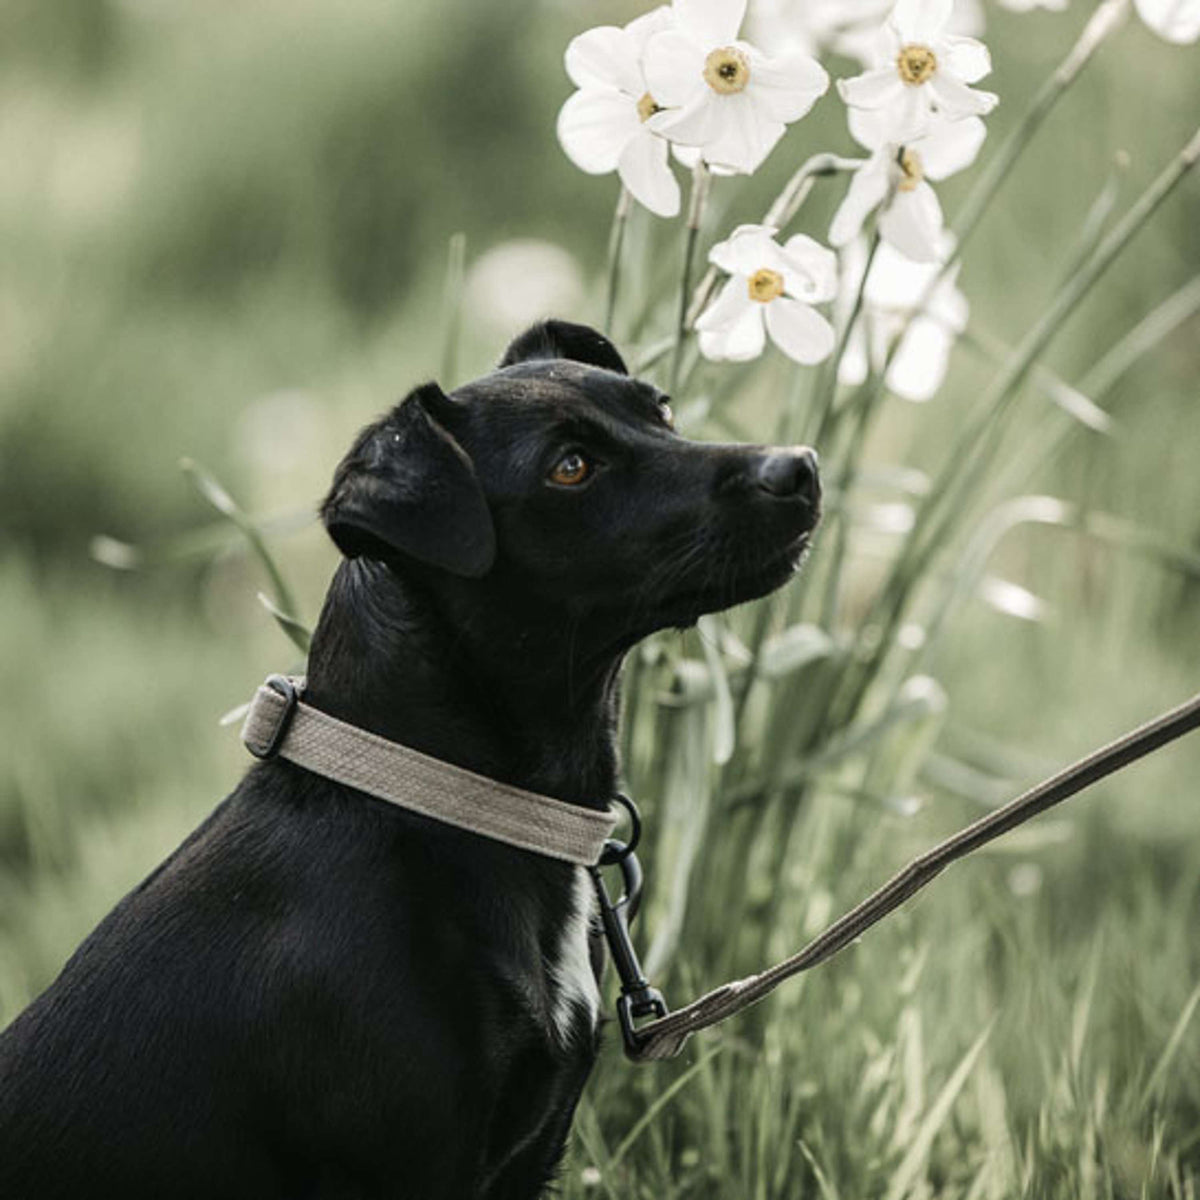
<svg viewBox="0 0 1200 1200">
<path fill-rule="evenodd" d="M 300 696 L 302 678 L 271 676 L 251 701 L 241 740 L 421 816 L 535 854 L 593 866 L 617 814 L 596 812 L 499 784 L 340 721 Z"/>
</svg>

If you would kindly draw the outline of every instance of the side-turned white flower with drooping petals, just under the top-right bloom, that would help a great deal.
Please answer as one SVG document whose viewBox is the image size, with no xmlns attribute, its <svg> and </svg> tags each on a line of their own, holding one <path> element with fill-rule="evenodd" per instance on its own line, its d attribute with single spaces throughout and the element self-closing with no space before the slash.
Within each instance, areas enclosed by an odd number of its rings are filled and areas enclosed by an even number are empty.
<svg viewBox="0 0 1200 1200">
<path fill-rule="evenodd" d="M 851 108 L 848 118 L 854 140 L 866 146 L 871 157 L 851 178 L 829 227 L 829 245 L 841 247 L 857 238 L 868 215 L 890 192 L 892 199 L 880 214 L 880 234 L 908 258 L 934 262 L 942 206 L 925 180 L 947 179 L 970 167 L 988 136 L 986 126 L 978 116 L 961 121 L 935 116 L 924 137 L 901 148 L 888 139 L 886 114 Z"/>
</svg>

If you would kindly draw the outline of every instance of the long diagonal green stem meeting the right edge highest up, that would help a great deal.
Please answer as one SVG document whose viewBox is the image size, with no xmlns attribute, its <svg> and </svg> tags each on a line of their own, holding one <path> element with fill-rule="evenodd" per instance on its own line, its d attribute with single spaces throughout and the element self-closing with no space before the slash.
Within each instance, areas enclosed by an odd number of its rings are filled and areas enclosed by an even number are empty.
<svg viewBox="0 0 1200 1200">
<path fill-rule="evenodd" d="M 947 456 L 946 467 L 935 482 L 917 520 L 900 558 L 896 560 L 878 600 L 868 618 L 880 625 L 876 650 L 864 668 L 857 673 L 848 695 L 844 697 L 840 716 L 853 715 L 878 671 L 892 643 L 892 637 L 904 616 L 908 596 L 929 566 L 943 541 L 947 522 L 954 520 L 953 500 L 961 491 L 964 481 L 977 478 L 980 462 L 991 444 L 995 425 L 1003 418 L 1016 397 L 1021 384 L 1038 356 L 1058 332 L 1092 286 L 1108 270 L 1116 257 L 1129 244 L 1134 234 L 1154 215 L 1159 205 L 1200 160 L 1200 130 L 1175 156 L 1172 162 L 1146 188 L 1126 215 L 1100 241 L 1086 263 L 1060 288 L 1049 308 L 1030 328 L 1025 337 L 1009 355 L 1008 361 L 991 386 L 984 392 L 974 420 L 962 430 Z M 949 503 L 948 503 L 949 502 Z M 949 517 L 944 517 L 944 512 Z M 938 520 L 941 518 L 941 523 Z"/>
</svg>

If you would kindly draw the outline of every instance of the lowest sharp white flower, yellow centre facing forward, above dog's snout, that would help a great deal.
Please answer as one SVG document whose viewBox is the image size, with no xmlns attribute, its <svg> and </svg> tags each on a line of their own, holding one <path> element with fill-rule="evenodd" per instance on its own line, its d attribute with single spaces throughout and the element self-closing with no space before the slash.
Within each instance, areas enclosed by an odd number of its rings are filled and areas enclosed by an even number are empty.
<svg viewBox="0 0 1200 1200">
<path fill-rule="evenodd" d="M 740 226 L 708 258 L 730 278 L 696 322 L 704 358 L 756 359 L 767 334 L 797 362 L 829 356 L 833 326 L 811 306 L 836 294 L 832 250 L 803 234 L 780 246 L 768 226 Z"/>
</svg>

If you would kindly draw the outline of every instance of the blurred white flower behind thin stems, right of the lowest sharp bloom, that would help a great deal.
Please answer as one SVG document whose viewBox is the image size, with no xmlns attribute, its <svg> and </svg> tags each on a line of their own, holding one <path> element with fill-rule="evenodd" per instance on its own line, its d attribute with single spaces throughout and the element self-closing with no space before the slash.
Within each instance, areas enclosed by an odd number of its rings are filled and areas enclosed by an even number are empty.
<svg viewBox="0 0 1200 1200">
<path fill-rule="evenodd" d="M 842 383 L 862 383 L 866 378 L 868 361 L 876 371 L 882 370 L 888 347 L 908 322 L 888 368 L 887 385 L 911 401 L 929 400 L 941 388 L 954 341 L 966 329 L 970 316 L 966 296 L 955 286 L 958 268 L 937 284 L 925 311 L 916 317 L 912 313 L 953 248 L 954 240 L 947 233 L 942 235 L 936 263 L 913 263 L 886 244 L 876 250 L 863 293 L 863 313 L 851 331 L 839 365 L 838 378 Z M 846 247 L 842 258 L 838 308 L 844 320 L 850 316 L 865 265 L 866 245 L 859 239 Z"/>
</svg>

